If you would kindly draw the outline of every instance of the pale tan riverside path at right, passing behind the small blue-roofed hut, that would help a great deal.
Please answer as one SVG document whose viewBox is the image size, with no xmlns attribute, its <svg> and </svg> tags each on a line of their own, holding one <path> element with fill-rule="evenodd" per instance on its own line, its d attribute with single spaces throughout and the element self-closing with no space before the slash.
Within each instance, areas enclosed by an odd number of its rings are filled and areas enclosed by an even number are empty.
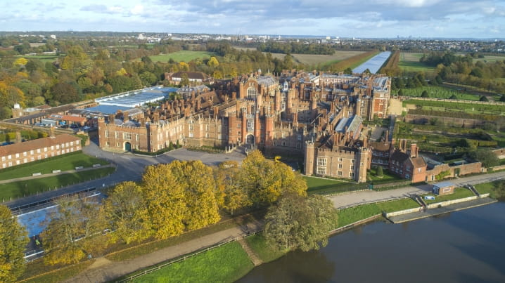
<svg viewBox="0 0 505 283">
<path fill-rule="evenodd" d="M 454 183 L 456 187 L 463 187 L 466 184 L 475 185 L 501 179 L 505 179 L 505 171 L 457 178 L 449 180 L 449 182 Z M 417 187 L 400 187 L 395 190 L 385 190 L 381 192 L 368 190 L 362 192 L 350 192 L 347 194 L 334 195 L 328 198 L 331 199 L 335 208 L 343 209 L 345 207 L 357 206 L 359 204 L 369 204 L 371 202 L 381 202 L 390 199 L 402 199 L 404 197 L 409 197 L 410 195 L 422 195 L 429 192 L 431 192 L 431 185 L 421 185 Z"/>
</svg>

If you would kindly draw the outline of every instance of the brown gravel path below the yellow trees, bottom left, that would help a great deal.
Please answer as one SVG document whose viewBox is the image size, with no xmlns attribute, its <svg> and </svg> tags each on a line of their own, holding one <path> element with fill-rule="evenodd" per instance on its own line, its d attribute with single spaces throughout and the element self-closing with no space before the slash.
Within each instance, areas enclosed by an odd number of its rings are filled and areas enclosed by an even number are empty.
<svg viewBox="0 0 505 283">
<path fill-rule="evenodd" d="M 248 230 L 241 227 L 230 228 L 182 244 L 169 246 L 165 249 L 160 249 L 151 254 L 146 254 L 128 261 L 115 262 L 99 258 L 98 261 L 100 264 L 94 264 L 96 268 L 94 268 L 94 265 L 91 265 L 91 267 L 84 270 L 84 272 L 81 272 L 76 277 L 72 277 L 65 282 L 108 282 L 117 277 L 135 272 L 136 270 L 148 268 L 151 265 L 168 261 L 185 254 L 190 254 L 191 252 L 214 246 L 215 244 L 225 242 L 229 239 L 235 239 L 237 237 L 242 238 L 249 232 L 256 232 L 257 230 L 260 230 L 260 223 L 249 223 Z"/>
</svg>

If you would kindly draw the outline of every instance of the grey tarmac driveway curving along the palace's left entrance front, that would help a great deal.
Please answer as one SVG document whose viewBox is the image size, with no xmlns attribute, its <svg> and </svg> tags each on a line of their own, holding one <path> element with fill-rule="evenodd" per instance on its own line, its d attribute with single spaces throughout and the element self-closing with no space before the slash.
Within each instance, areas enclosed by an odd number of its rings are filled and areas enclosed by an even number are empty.
<svg viewBox="0 0 505 283">
<path fill-rule="evenodd" d="M 125 180 L 141 180 L 143 170 L 146 166 L 160 163 L 170 163 L 176 159 L 201 160 L 204 164 L 215 166 L 225 161 L 241 162 L 241 160 L 245 157 L 244 154 L 241 154 L 239 152 L 210 154 L 206 152 L 192 152 L 184 148 L 172 150 L 171 152 L 167 152 L 157 157 L 146 157 L 132 153 L 107 152 L 101 150 L 100 147 L 98 147 L 98 145 L 96 145 L 94 142 L 91 142 L 90 145 L 83 147 L 82 151 L 91 156 L 106 159 L 109 162 L 115 164 L 116 171 L 105 178 L 90 180 L 78 185 L 70 185 L 58 190 L 44 192 L 38 195 L 32 195 L 30 197 L 23 197 L 21 199 L 15 199 L 10 202 L 5 202 L 4 205 L 12 209 L 14 207 L 23 206 L 25 204 L 32 204 L 42 199 L 51 199 L 60 195 L 78 192 L 89 187 L 109 187 L 117 183 L 121 183 Z"/>
</svg>

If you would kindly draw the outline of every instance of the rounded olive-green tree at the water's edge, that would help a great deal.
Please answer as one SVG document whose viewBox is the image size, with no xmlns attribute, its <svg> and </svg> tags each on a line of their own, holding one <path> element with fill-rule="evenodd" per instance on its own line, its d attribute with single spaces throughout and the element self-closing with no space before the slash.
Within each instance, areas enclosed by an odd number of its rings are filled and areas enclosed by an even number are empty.
<svg viewBox="0 0 505 283">
<path fill-rule="evenodd" d="M 338 216 L 329 199 L 288 194 L 265 216 L 264 236 L 276 249 L 309 251 L 328 244 Z"/>
</svg>

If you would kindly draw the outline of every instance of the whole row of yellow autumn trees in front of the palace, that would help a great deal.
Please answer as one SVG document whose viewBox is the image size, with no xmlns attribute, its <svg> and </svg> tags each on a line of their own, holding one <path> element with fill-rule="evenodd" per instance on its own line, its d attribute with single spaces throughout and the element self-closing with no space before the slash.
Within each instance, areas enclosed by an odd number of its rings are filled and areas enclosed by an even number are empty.
<svg viewBox="0 0 505 283">
<path fill-rule="evenodd" d="M 212 168 L 200 161 L 146 167 L 141 183 L 115 186 L 103 205 L 65 197 L 42 233 L 49 265 L 96 256 L 110 243 L 166 239 L 221 219 L 220 211 L 268 207 L 286 194 L 306 197 L 307 184 L 289 166 L 255 151 Z M 110 230 L 110 233 L 103 231 Z"/>
</svg>

